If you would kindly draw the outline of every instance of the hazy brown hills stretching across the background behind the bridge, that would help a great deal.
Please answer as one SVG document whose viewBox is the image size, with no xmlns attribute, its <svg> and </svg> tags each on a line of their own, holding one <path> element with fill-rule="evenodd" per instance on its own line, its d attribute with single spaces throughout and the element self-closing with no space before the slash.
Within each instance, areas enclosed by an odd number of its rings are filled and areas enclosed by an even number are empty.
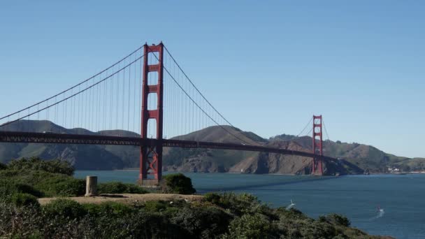
<svg viewBox="0 0 425 239">
<path fill-rule="evenodd" d="M 231 126 L 211 126 L 185 136 L 182 140 L 199 140 L 222 143 L 240 143 L 229 132 L 253 145 L 268 145 L 290 150 L 310 152 L 312 138 L 280 135 L 264 139 L 252 132 L 244 132 Z M 121 130 L 92 132 L 86 129 L 64 129 L 48 121 L 22 121 L 8 127 L 10 131 L 54 131 L 60 133 L 103 134 L 108 136 L 135 136 L 137 133 Z M 326 141 L 324 154 L 340 158 L 338 162 L 325 164 L 326 173 L 363 173 L 384 171 L 387 166 L 425 168 L 425 159 L 408 159 L 386 154 L 375 147 L 357 143 Z M 20 157 L 39 156 L 43 159 L 61 158 L 70 161 L 77 169 L 136 168 L 139 149 L 118 145 L 50 145 L 34 143 L 0 143 L 0 161 Z M 235 150 L 164 148 L 165 171 L 235 172 L 235 173 L 309 173 L 311 159 L 282 154 L 242 152 Z"/>
</svg>

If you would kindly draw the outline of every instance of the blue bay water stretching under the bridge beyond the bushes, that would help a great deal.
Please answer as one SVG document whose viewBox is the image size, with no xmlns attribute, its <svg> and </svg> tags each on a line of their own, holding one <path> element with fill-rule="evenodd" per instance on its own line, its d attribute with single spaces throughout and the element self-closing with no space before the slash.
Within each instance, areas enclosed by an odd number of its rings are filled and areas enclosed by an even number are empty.
<svg viewBox="0 0 425 239">
<path fill-rule="evenodd" d="M 76 171 L 76 178 L 97 175 L 99 182 L 136 182 L 137 171 Z M 373 235 L 425 238 L 425 175 L 350 175 L 336 178 L 291 175 L 185 173 L 200 193 L 254 194 L 273 207 L 287 206 L 319 217 L 347 216 L 352 226 Z M 384 212 L 377 212 L 380 206 Z"/>
</svg>

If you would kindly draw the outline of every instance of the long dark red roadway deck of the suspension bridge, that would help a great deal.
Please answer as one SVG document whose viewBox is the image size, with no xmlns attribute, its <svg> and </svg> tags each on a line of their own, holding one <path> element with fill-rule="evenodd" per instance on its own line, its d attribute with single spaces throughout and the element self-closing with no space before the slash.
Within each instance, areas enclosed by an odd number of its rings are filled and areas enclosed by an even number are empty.
<svg viewBox="0 0 425 239">
<path fill-rule="evenodd" d="M 157 139 L 102 136 L 97 134 L 70 134 L 70 133 L 34 133 L 22 131 L 0 131 L 0 143 L 55 143 L 55 144 L 80 144 L 80 145 L 130 145 L 130 146 L 154 146 Z M 164 147 L 187 147 L 187 148 L 209 148 L 220 150 L 241 150 L 255 152 L 269 152 L 275 154 L 289 154 L 302 157 L 315 157 L 329 161 L 338 161 L 332 157 L 321 156 L 309 152 L 286 150 L 276 147 L 244 145 L 237 143 L 212 143 L 193 140 L 163 139 Z"/>
</svg>

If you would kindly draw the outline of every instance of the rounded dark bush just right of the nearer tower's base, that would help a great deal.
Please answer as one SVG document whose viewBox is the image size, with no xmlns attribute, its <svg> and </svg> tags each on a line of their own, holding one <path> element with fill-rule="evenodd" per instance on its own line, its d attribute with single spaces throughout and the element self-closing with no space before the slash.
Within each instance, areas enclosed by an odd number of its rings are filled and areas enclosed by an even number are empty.
<svg viewBox="0 0 425 239">
<path fill-rule="evenodd" d="M 192 180 L 182 173 L 165 175 L 161 182 L 161 189 L 167 194 L 194 194 L 196 192 Z"/>
</svg>

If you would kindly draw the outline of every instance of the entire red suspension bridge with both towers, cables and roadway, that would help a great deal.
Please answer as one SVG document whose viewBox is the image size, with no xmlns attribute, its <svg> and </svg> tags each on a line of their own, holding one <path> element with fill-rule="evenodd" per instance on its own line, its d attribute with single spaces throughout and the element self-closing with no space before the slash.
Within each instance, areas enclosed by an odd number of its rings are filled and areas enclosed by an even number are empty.
<svg viewBox="0 0 425 239">
<path fill-rule="evenodd" d="M 47 120 L 63 128 L 41 131 L 31 128 L 28 124 L 31 120 Z M 236 127 L 212 106 L 164 44 L 159 43 L 145 44 L 91 78 L 0 117 L 0 142 L 137 146 L 140 147 L 139 180 L 145 185 L 161 180 L 163 147 L 310 157 L 311 173 L 323 175 L 323 161 L 338 159 L 323 155 L 322 116 L 313 116 L 310 122 L 310 152 L 246 140 L 243 131 L 231 130 Z M 227 138 L 214 142 L 185 137 L 210 126 L 225 133 Z M 76 133 L 66 133 L 66 128 L 75 129 Z"/>
</svg>

